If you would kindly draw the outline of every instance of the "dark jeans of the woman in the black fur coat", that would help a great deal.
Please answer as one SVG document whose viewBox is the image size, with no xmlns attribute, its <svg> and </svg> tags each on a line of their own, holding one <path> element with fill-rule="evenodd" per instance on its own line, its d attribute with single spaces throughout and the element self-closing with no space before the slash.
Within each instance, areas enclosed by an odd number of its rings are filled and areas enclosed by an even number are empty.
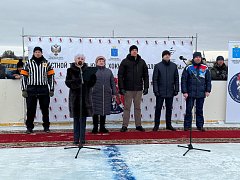
<svg viewBox="0 0 240 180">
<path fill-rule="evenodd" d="M 80 120 L 79 117 L 73 118 L 73 134 L 74 142 L 85 141 L 85 132 L 86 132 L 86 117 L 82 117 Z"/>
</svg>

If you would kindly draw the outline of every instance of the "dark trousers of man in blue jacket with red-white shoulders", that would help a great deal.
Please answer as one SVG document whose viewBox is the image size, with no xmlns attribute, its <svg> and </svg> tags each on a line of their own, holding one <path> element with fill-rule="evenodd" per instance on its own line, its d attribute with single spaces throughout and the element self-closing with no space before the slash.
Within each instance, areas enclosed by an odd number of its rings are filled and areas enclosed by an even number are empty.
<svg viewBox="0 0 240 180">
<path fill-rule="evenodd" d="M 205 98 L 192 98 L 188 97 L 186 100 L 186 114 L 184 118 L 184 127 L 190 128 L 192 126 L 192 109 L 194 102 L 196 102 L 196 126 L 203 127 L 204 117 L 203 117 L 203 104 Z"/>
</svg>

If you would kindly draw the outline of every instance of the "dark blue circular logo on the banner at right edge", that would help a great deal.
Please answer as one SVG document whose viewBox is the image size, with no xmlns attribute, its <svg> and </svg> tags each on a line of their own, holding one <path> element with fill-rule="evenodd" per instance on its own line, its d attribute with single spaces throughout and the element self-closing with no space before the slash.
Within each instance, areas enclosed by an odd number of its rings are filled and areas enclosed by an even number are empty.
<svg viewBox="0 0 240 180">
<path fill-rule="evenodd" d="M 235 74 L 229 81 L 228 92 L 234 101 L 240 103 L 240 73 Z"/>
</svg>

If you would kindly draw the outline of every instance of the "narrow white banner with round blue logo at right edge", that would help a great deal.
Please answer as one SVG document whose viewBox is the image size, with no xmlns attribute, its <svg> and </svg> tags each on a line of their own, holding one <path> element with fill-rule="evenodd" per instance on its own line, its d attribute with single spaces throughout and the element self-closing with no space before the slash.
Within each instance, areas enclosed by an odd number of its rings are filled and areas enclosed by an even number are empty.
<svg viewBox="0 0 240 180">
<path fill-rule="evenodd" d="M 240 41 L 230 41 L 226 123 L 240 123 Z"/>
</svg>

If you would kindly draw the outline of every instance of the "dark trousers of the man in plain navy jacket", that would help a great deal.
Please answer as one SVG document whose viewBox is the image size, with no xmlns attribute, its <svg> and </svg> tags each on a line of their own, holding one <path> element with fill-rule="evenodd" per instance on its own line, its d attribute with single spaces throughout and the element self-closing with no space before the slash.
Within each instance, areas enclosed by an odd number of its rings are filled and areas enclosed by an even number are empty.
<svg viewBox="0 0 240 180">
<path fill-rule="evenodd" d="M 160 117 L 161 117 L 161 111 L 163 106 L 163 101 L 165 100 L 166 105 L 166 125 L 171 125 L 171 119 L 172 119 L 172 104 L 173 104 L 173 97 L 164 98 L 157 96 L 156 97 L 156 109 L 155 109 L 155 126 L 159 126 L 160 124 Z"/>
</svg>

